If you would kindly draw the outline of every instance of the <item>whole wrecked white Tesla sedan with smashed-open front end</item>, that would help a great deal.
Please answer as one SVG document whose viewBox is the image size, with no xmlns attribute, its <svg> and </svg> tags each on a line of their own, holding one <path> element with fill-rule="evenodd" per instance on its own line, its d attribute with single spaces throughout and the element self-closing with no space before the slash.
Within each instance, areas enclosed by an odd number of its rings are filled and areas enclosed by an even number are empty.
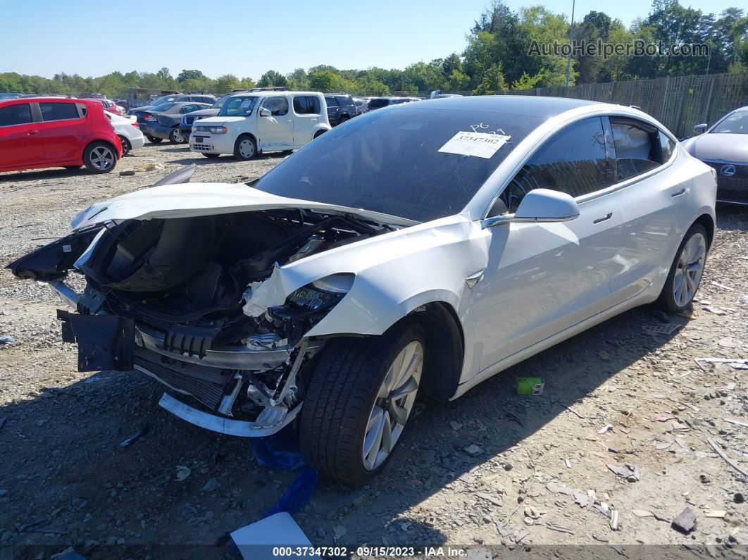
<svg viewBox="0 0 748 560">
<path fill-rule="evenodd" d="M 80 371 L 152 375 L 162 407 L 224 434 L 295 422 L 313 464 L 361 483 L 418 393 L 456 399 L 631 307 L 687 307 L 715 192 L 632 108 L 433 99 L 338 126 L 248 185 L 97 203 L 9 268 L 75 308 L 58 317 Z"/>
</svg>

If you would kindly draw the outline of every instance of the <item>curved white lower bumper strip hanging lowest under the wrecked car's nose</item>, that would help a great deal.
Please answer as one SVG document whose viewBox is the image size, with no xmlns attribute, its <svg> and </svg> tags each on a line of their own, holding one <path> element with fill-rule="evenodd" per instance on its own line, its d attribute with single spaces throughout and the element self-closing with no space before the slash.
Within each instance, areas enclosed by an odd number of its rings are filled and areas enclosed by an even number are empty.
<svg viewBox="0 0 748 560">
<path fill-rule="evenodd" d="M 301 410 L 301 403 L 297 404 L 292 410 L 287 410 L 285 407 L 268 407 L 260 413 L 257 420 L 248 422 L 222 418 L 221 416 L 215 416 L 215 414 L 197 410 L 197 408 L 174 399 L 168 393 L 164 393 L 161 397 L 159 406 L 192 425 L 216 431 L 219 434 L 238 437 L 263 437 L 275 434 L 289 425 L 295 419 L 298 411 Z"/>
</svg>

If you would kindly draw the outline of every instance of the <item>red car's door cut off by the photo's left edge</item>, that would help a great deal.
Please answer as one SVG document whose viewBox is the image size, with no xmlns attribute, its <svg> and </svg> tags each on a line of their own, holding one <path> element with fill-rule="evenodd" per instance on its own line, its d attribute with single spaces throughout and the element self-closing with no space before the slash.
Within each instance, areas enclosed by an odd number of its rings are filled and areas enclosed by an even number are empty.
<svg viewBox="0 0 748 560">
<path fill-rule="evenodd" d="M 0 107 L 0 169 L 40 164 L 44 146 L 40 123 L 34 122 L 31 103 Z"/>
</svg>

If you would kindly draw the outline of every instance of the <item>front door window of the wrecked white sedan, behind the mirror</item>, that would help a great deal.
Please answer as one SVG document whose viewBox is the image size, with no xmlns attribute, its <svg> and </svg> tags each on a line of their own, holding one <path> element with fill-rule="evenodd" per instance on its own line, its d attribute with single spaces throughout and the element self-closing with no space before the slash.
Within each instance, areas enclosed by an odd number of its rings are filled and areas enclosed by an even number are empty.
<svg viewBox="0 0 748 560">
<path fill-rule="evenodd" d="M 571 124 L 548 140 L 519 170 L 500 199 L 515 212 L 525 194 L 550 188 L 580 197 L 606 188 L 605 135 L 600 117 Z"/>
</svg>

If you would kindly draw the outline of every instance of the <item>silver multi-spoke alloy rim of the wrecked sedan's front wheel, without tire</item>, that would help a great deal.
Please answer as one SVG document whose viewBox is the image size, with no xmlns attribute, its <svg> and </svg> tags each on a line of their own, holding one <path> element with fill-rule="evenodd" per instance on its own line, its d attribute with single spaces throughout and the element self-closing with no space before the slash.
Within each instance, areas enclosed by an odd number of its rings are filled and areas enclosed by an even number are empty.
<svg viewBox="0 0 748 560">
<path fill-rule="evenodd" d="M 416 400 L 423 366 L 423 345 L 409 342 L 397 354 L 384 376 L 364 435 L 362 458 L 366 470 L 375 470 L 392 452 Z"/>
</svg>

